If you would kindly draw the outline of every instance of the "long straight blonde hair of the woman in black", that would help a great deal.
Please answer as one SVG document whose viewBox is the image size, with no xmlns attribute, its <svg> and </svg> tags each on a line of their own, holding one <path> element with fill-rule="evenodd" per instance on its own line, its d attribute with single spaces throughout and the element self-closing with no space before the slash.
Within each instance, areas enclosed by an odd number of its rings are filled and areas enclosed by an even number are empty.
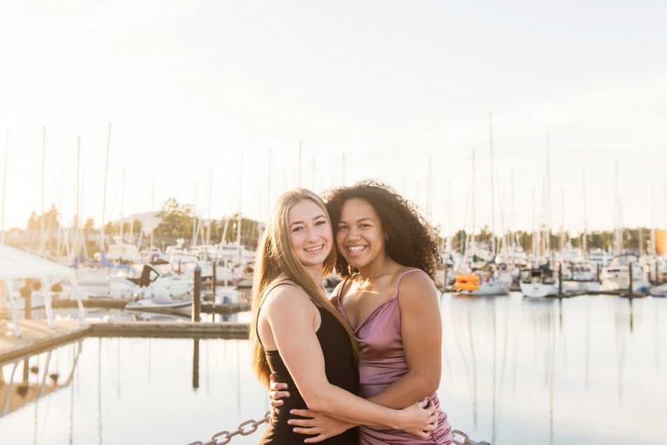
<svg viewBox="0 0 667 445">
<path fill-rule="evenodd" d="M 257 323 L 259 318 L 260 304 L 262 297 L 269 285 L 278 278 L 281 274 L 287 276 L 296 285 L 300 286 L 311 297 L 313 302 L 318 306 L 331 313 L 338 322 L 344 327 L 347 335 L 353 346 L 354 354 L 357 355 L 358 346 L 356 339 L 352 334 L 350 327 L 345 323 L 341 314 L 335 309 L 333 304 L 329 301 L 320 286 L 313 282 L 311 276 L 307 273 L 303 264 L 297 258 L 292 243 L 290 241 L 290 232 L 288 229 L 288 214 L 290 209 L 298 202 L 304 199 L 317 204 L 321 209 L 327 222 L 331 224 L 329 213 L 322 201 L 321 197 L 314 192 L 304 188 L 297 188 L 289 192 L 283 193 L 276 202 L 273 212 L 269 218 L 269 222 L 260 237 L 257 259 L 255 260 L 255 272 L 253 278 L 253 290 L 251 292 L 251 305 L 253 312 L 253 320 L 250 328 L 250 339 L 253 344 L 252 362 L 253 370 L 257 374 L 258 379 L 269 386 L 269 364 L 267 362 L 266 353 L 262 348 L 257 335 Z M 332 241 L 333 242 L 333 241 Z M 329 274 L 336 262 L 335 246 L 332 247 L 331 252 L 326 257 L 323 268 L 322 277 Z"/>
</svg>

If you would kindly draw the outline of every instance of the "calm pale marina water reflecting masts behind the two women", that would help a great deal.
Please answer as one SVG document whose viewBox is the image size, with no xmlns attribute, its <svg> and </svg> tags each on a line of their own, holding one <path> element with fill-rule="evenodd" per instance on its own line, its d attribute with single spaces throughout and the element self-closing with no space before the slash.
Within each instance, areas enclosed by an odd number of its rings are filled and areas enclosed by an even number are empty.
<svg viewBox="0 0 667 445">
<path fill-rule="evenodd" d="M 472 439 L 667 443 L 666 299 L 444 295 L 441 311 L 439 395 Z M 13 386 L 0 443 L 187 444 L 234 429 L 268 409 L 249 351 L 247 340 L 89 338 L 25 372 L 3 365 L 0 409 Z"/>
</svg>

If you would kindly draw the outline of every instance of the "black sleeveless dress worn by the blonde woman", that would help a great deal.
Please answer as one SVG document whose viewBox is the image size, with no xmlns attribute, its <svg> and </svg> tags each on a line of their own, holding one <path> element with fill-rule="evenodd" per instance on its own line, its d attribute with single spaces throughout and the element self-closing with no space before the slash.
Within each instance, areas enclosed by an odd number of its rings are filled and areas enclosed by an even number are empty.
<svg viewBox="0 0 667 445">
<path fill-rule="evenodd" d="M 281 282 L 276 285 L 290 284 Z M 275 287 L 275 286 L 274 286 Z M 268 294 L 268 292 L 267 292 Z M 317 306 L 317 305 L 316 305 Z M 321 324 L 317 330 L 317 339 L 322 347 L 324 355 L 325 374 L 332 385 L 343 388 L 352 394 L 358 393 L 359 372 L 350 339 L 338 320 L 326 309 L 317 306 L 320 311 Z M 259 335 L 257 337 L 259 339 Z M 307 409 L 297 386 L 283 362 L 278 351 L 266 351 L 267 361 L 271 372 L 276 375 L 276 381 L 287 383 L 290 397 L 283 400 L 283 405 L 276 408 L 276 414 L 272 417 L 269 427 L 265 431 L 259 444 L 300 444 L 304 439 L 314 437 L 311 435 L 300 435 L 292 431 L 293 425 L 288 425 L 290 418 L 299 418 L 290 414 L 290 409 Z M 357 428 L 351 428 L 340 435 L 318 442 L 329 445 L 356 445 L 358 442 Z"/>
</svg>

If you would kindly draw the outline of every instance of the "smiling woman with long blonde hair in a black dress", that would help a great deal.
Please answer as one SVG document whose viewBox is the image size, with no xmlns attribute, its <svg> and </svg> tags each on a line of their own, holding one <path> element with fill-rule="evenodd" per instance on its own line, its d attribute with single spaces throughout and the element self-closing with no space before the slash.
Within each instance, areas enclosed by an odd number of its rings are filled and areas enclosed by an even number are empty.
<svg viewBox="0 0 667 445">
<path fill-rule="evenodd" d="M 389 409 L 356 395 L 357 346 L 325 295 L 322 278 L 335 264 L 332 226 L 321 198 L 297 189 L 283 194 L 260 239 L 253 283 L 253 368 L 290 385 L 260 444 L 308 443 L 293 431 L 290 411 L 313 409 L 358 425 L 377 425 L 428 437 L 435 408 L 417 402 Z M 321 443 L 357 444 L 356 428 Z"/>
</svg>

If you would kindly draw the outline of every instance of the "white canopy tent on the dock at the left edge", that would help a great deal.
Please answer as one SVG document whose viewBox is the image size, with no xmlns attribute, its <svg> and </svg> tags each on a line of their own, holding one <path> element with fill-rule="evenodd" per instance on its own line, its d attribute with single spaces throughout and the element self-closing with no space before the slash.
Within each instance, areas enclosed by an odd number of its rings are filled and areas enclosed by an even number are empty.
<svg viewBox="0 0 667 445">
<path fill-rule="evenodd" d="M 14 334 L 19 337 L 17 309 L 14 304 L 12 281 L 22 278 L 36 278 L 42 281 L 44 289 L 44 306 L 46 318 L 50 327 L 53 327 L 53 309 L 51 307 L 51 283 L 55 280 L 68 278 L 76 285 L 74 269 L 62 266 L 56 262 L 45 260 L 42 257 L 27 253 L 24 250 L 0 244 L 0 281 L 5 282 L 6 292 L 10 302 L 10 312 L 14 325 Z M 0 298 L 0 309 L 5 306 L 5 299 Z M 78 300 L 78 306 L 83 320 L 83 304 Z"/>
</svg>

